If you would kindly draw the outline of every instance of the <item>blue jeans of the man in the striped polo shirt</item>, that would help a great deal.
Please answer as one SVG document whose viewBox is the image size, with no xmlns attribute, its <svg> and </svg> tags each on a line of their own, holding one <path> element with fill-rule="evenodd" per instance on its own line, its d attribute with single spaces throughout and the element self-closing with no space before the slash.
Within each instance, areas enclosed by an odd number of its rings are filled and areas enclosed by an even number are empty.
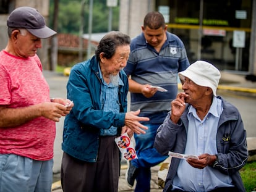
<svg viewBox="0 0 256 192">
<path fill-rule="evenodd" d="M 139 191 L 150 191 L 150 180 L 151 180 L 151 171 L 150 167 L 160 164 L 168 156 L 162 156 L 160 153 L 153 148 L 155 141 L 156 131 L 159 124 L 146 124 L 143 125 L 148 127 L 145 134 L 134 134 L 135 139 L 135 150 L 137 153 L 138 159 L 132 160 L 132 165 L 139 168 L 139 175 L 136 178 L 137 184 L 135 187 L 135 192 Z"/>
</svg>

